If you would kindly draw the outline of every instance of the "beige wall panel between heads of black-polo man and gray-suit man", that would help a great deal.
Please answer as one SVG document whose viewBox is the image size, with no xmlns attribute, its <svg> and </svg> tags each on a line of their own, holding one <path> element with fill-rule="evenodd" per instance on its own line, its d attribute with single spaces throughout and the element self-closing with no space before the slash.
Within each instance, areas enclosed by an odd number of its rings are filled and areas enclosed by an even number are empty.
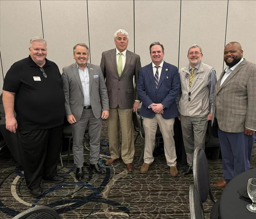
<svg viewBox="0 0 256 219">
<path fill-rule="evenodd" d="M 75 62 L 73 46 L 88 43 L 86 1 L 41 1 L 47 58 L 55 62 L 62 73 L 64 66 Z M 88 45 L 89 46 L 89 45 Z"/>
</svg>

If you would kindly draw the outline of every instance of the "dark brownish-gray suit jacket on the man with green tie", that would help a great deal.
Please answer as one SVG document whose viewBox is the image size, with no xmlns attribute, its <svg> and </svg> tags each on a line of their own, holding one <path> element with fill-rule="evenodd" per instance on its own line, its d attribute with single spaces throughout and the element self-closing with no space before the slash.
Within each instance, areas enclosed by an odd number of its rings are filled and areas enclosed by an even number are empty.
<svg viewBox="0 0 256 219">
<path fill-rule="evenodd" d="M 139 55 L 127 50 L 124 70 L 119 77 L 116 64 L 116 49 L 104 51 L 101 58 L 101 70 L 106 78 L 110 108 L 132 108 L 134 100 L 139 100 L 136 86 L 141 64 Z"/>
</svg>

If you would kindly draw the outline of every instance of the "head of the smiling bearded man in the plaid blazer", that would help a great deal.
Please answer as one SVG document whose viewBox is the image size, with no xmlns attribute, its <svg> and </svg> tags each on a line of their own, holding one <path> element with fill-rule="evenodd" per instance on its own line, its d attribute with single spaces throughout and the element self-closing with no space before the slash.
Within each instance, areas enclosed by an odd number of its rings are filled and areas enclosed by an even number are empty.
<svg viewBox="0 0 256 219">
<path fill-rule="evenodd" d="M 227 43 L 227 45 L 224 48 L 223 58 L 224 61 L 226 62 L 226 65 L 231 68 L 241 60 L 243 54 L 244 51 L 242 50 L 240 43 L 230 42 Z"/>
</svg>

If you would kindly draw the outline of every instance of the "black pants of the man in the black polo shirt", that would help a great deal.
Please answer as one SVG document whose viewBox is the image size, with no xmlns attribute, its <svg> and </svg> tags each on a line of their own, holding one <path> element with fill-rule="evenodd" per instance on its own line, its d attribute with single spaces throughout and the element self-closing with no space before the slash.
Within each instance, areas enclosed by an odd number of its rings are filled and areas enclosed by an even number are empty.
<svg viewBox="0 0 256 219">
<path fill-rule="evenodd" d="M 27 187 L 38 188 L 42 177 L 51 178 L 57 175 L 63 125 L 41 130 L 18 128 L 18 135 Z"/>
</svg>

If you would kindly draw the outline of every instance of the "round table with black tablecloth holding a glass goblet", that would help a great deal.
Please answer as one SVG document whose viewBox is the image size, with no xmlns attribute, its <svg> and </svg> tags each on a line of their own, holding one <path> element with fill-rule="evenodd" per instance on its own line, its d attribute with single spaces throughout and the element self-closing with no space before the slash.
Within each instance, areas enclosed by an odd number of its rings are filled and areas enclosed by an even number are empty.
<svg viewBox="0 0 256 219">
<path fill-rule="evenodd" d="M 249 178 L 256 178 L 256 168 L 240 173 L 230 180 L 222 192 L 219 204 L 221 219 L 255 219 L 256 213 L 247 210 L 249 204 L 239 198 L 238 190 L 246 188 Z"/>
</svg>

